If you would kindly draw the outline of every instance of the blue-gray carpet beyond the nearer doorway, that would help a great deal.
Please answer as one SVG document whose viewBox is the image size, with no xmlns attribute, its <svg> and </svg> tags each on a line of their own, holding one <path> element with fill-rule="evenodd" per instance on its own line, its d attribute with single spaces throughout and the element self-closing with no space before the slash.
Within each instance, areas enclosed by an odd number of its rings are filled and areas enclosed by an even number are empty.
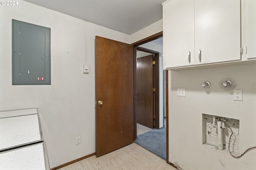
<svg viewBox="0 0 256 170">
<path fill-rule="evenodd" d="M 134 142 L 166 160 L 166 125 L 138 135 Z"/>
</svg>

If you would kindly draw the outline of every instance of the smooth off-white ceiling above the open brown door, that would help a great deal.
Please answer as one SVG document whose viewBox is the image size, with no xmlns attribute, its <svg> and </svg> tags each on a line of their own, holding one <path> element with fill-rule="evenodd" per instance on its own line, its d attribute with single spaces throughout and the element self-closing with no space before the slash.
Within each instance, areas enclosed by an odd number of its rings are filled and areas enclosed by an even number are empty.
<svg viewBox="0 0 256 170">
<path fill-rule="evenodd" d="M 24 0 L 131 35 L 162 19 L 166 0 Z"/>
</svg>

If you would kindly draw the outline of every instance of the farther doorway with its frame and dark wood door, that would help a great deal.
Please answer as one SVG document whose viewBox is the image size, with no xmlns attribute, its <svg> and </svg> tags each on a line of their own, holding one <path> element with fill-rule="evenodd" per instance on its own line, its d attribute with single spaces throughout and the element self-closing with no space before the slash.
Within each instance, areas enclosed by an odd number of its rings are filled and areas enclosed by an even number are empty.
<svg viewBox="0 0 256 170">
<path fill-rule="evenodd" d="M 159 52 L 137 47 L 137 123 L 159 129 Z"/>
</svg>

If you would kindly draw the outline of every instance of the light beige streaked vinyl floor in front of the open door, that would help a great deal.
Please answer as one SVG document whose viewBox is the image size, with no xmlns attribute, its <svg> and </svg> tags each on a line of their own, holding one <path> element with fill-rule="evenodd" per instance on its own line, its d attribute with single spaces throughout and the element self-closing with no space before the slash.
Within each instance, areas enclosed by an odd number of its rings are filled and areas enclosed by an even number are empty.
<svg viewBox="0 0 256 170">
<path fill-rule="evenodd" d="M 136 143 L 132 143 L 98 158 L 94 155 L 59 170 L 176 170 L 176 168 Z"/>
</svg>

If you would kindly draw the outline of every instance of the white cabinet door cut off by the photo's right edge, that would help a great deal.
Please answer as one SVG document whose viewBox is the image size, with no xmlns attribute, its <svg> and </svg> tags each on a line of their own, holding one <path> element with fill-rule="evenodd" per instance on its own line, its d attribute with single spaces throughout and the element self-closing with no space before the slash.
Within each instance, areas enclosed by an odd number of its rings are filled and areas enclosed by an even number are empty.
<svg viewBox="0 0 256 170">
<path fill-rule="evenodd" d="M 245 33 L 246 42 L 244 43 L 244 54 L 247 49 L 246 58 L 252 59 L 256 58 L 256 0 L 247 0 L 246 10 L 242 12 L 242 15 L 245 15 L 246 25 Z M 246 46 L 246 49 L 245 49 Z"/>
</svg>

